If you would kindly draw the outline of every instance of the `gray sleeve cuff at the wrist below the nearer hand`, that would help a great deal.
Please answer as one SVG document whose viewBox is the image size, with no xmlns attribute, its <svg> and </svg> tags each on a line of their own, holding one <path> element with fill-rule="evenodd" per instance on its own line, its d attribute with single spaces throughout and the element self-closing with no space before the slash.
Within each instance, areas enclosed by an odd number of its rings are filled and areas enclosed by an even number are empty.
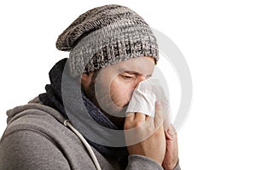
<svg viewBox="0 0 256 170">
<path fill-rule="evenodd" d="M 128 165 L 126 170 L 163 170 L 160 164 L 146 156 L 131 155 L 128 156 Z"/>
</svg>

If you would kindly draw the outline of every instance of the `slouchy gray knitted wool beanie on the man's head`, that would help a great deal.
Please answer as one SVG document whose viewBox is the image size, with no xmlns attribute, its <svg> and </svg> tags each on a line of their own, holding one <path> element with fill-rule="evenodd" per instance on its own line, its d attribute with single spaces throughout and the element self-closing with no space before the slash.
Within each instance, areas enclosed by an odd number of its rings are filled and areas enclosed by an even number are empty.
<svg viewBox="0 0 256 170">
<path fill-rule="evenodd" d="M 90 9 L 61 33 L 56 48 L 70 51 L 73 77 L 126 59 L 159 58 L 156 38 L 148 24 L 130 8 L 105 5 Z"/>
</svg>

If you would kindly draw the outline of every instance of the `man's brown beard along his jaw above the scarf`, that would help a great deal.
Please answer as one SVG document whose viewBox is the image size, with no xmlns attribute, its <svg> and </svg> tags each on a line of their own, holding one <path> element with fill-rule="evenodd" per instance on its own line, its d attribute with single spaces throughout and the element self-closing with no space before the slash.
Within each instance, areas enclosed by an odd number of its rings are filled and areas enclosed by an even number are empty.
<svg viewBox="0 0 256 170">
<path fill-rule="evenodd" d="M 128 103 L 123 107 L 118 107 L 115 104 L 118 103 L 119 98 L 114 95 L 110 95 L 109 89 L 104 87 L 103 83 L 100 83 L 101 87 L 97 87 L 96 91 L 96 77 L 99 71 L 95 71 L 91 78 L 89 88 L 84 89 L 85 96 L 90 99 L 90 101 L 96 105 L 102 113 L 108 117 L 108 119 L 113 122 L 114 125 L 119 127 L 119 129 L 124 129 L 125 123 L 125 111 L 127 110 Z"/>
</svg>

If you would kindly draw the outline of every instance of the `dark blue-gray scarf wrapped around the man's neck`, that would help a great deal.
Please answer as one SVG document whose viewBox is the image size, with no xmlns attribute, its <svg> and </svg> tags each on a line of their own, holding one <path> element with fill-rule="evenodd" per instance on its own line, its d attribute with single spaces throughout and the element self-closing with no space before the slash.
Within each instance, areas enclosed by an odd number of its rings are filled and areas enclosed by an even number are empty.
<svg viewBox="0 0 256 170">
<path fill-rule="evenodd" d="M 119 143 L 125 142 L 123 131 L 119 130 L 90 99 L 85 97 L 80 81 L 70 76 L 66 63 L 67 59 L 61 59 L 49 71 L 50 84 L 45 86 L 46 93 L 39 94 L 40 101 L 61 112 L 82 133 L 90 145 L 103 156 L 116 157 L 122 161 L 119 163 L 123 167 L 127 164 L 128 157 L 127 148 L 119 146 Z M 108 133 L 109 131 L 111 133 Z M 104 144 L 106 141 L 109 143 Z M 119 147 L 109 145 L 115 143 Z"/>
</svg>

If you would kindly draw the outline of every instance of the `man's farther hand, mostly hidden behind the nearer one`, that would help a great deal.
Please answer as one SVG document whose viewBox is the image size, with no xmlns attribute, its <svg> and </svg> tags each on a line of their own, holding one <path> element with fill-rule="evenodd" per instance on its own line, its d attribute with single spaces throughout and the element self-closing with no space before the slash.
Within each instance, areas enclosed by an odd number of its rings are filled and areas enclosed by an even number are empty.
<svg viewBox="0 0 256 170">
<path fill-rule="evenodd" d="M 165 170 L 172 170 L 177 165 L 178 151 L 177 151 L 177 133 L 171 125 L 166 133 L 166 156 L 162 163 Z"/>
</svg>

